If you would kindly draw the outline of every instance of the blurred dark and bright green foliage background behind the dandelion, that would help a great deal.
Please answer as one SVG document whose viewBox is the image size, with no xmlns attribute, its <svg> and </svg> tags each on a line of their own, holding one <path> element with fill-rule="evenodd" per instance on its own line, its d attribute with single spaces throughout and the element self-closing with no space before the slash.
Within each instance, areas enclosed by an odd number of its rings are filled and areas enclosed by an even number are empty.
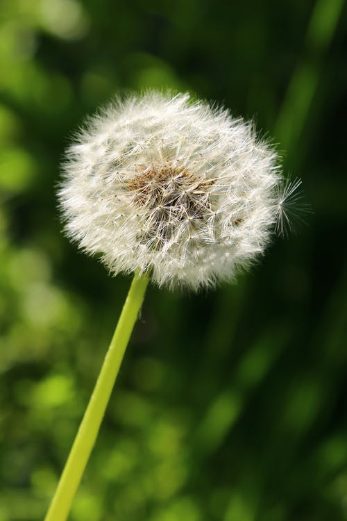
<svg viewBox="0 0 347 521">
<path fill-rule="evenodd" d="M 147 87 L 254 117 L 313 213 L 236 286 L 149 289 L 71 520 L 347 520 L 343 1 L 0 13 L 0 521 L 43 518 L 130 283 L 61 233 L 64 149 Z"/>
</svg>

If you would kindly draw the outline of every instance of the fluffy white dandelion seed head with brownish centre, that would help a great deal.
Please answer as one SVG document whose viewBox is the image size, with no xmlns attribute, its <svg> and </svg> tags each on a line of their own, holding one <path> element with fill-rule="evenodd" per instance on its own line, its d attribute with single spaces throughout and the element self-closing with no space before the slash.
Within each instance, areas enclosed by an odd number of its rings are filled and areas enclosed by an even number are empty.
<svg viewBox="0 0 347 521">
<path fill-rule="evenodd" d="M 198 289 L 262 254 L 281 207 L 277 157 L 253 125 L 189 94 L 147 92 L 87 121 L 59 200 L 69 237 L 112 274 Z"/>
</svg>

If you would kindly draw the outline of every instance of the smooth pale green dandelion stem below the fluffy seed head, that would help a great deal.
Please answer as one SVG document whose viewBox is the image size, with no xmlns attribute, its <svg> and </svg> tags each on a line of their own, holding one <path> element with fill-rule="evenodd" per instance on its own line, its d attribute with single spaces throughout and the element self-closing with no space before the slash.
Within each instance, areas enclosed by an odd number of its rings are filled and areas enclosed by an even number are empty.
<svg viewBox="0 0 347 521">
<path fill-rule="evenodd" d="M 96 381 L 92 397 L 67 458 L 45 521 L 65 521 L 69 515 L 76 490 L 94 447 L 105 408 L 115 385 L 119 367 L 142 306 L 148 283 L 148 275 L 137 276 L 135 274 L 105 361 L 101 367 L 99 378 Z"/>
</svg>

